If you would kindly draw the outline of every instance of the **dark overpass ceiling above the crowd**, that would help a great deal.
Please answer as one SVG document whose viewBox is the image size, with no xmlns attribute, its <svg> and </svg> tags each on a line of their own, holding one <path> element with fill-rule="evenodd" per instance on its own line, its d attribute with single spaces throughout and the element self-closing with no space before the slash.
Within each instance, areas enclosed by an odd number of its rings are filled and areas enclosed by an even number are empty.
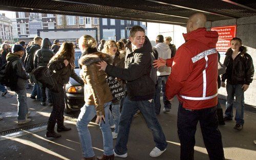
<svg viewBox="0 0 256 160">
<path fill-rule="evenodd" d="M 208 21 L 256 16 L 256 1 L 243 0 L 0 0 L 0 10 L 186 24 L 196 12 Z"/>
</svg>

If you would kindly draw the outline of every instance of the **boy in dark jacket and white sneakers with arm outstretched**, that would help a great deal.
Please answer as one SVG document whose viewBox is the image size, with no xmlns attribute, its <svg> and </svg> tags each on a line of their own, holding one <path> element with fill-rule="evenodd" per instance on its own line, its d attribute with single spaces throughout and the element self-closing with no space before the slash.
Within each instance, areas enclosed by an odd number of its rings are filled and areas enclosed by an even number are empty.
<svg viewBox="0 0 256 160">
<path fill-rule="evenodd" d="M 153 132 L 156 147 L 150 156 L 160 156 L 166 150 L 166 140 L 162 128 L 155 114 L 155 83 L 150 77 L 152 45 L 140 26 L 134 26 L 130 31 L 132 51 L 126 49 L 126 67 L 120 68 L 105 61 L 100 62 L 100 70 L 107 74 L 126 80 L 127 97 L 123 100 L 123 107 L 119 119 L 119 130 L 115 146 L 115 156 L 127 157 L 127 142 L 132 119 L 139 109 L 148 128 Z"/>
</svg>

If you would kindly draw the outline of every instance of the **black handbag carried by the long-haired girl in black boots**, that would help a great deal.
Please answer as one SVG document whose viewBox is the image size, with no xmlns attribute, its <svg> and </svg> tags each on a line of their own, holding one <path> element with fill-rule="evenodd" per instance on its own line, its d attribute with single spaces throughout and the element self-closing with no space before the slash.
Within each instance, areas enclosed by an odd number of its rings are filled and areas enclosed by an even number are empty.
<svg viewBox="0 0 256 160">
<path fill-rule="evenodd" d="M 47 66 L 39 66 L 32 71 L 35 79 L 52 92 L 58 92 L 57 80 L 59 74 L 50 70 Z"/>
</svg>

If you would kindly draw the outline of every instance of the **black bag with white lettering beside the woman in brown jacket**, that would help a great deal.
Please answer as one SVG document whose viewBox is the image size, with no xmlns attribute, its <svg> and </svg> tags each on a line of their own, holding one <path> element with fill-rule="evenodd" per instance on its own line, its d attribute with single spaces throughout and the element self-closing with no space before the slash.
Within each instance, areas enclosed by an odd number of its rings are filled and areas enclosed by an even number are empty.
<svg viewBox="0 0 256 160">
<path fill-rule="evenodd" d="M 106 82 L 109 84 L 110 91 L 113 96 L 113 102 L 119 101 L 125 97 L 125 91 L 115 77 L 107 76 Z"/>
</svg>

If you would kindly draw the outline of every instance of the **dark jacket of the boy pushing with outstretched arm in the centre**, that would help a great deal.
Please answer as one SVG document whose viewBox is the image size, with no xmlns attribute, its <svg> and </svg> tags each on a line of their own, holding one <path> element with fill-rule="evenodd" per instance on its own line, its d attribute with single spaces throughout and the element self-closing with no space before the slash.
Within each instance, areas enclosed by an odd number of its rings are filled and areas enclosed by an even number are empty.
<svg viewBox="0 0 256 160">
<path fill-rule="evenodd" d="M 132 52 L 126 49 L 125 68 L 106 66 L 106 73 L 126 80 L 128 97 L 132 101 L 151 100 L 155 94 L 155 83 L 150 77 L 152 45 L 145 38 L 143 47 Z"/>
</svg>

